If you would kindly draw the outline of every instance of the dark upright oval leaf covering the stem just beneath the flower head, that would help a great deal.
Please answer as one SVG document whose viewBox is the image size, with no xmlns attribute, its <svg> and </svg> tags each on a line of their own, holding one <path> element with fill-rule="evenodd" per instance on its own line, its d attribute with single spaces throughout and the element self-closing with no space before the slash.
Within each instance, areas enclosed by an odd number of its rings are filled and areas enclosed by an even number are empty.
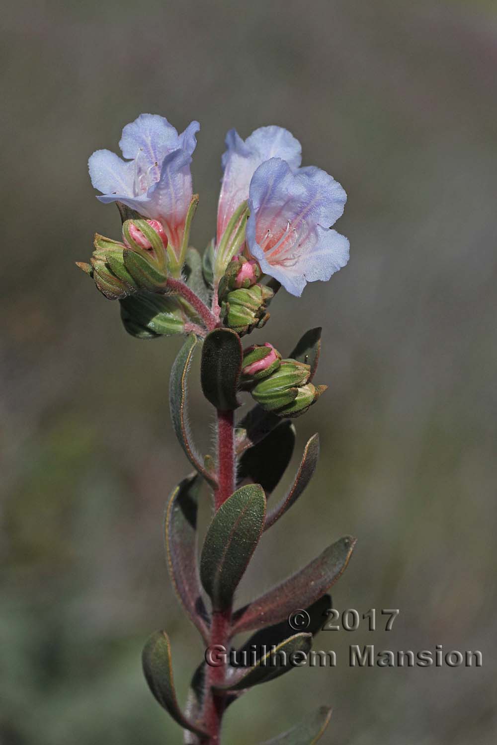
<svg viewBox="0 0 497 745">
<path fill-rule="evenodd" d="M 222 411 L 238 408 L 236 390 L 243 352 L 238 334 L 215 329 L 203 342 L 200 382 L 206 399 Z"/>
</svg>

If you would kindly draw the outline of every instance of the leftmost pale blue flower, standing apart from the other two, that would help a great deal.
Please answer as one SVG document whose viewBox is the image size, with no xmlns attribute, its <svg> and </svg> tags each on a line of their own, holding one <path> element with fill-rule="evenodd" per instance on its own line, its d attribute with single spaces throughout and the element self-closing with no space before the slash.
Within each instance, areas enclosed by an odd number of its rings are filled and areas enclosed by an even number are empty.
<svg viewBox="0 0 497 745">
<path fill-rule="evenodd" d="M 122 130 L 119 147 L 125 160 L 97 150 L 88 162 L 92 185 L 103 194 L 98 199 L 122 202 L 159 220 L 177 256 L 192 197 L 190 163 L 199 129 L 192 121 L 178 135 L 163 116 L 140 114 Z"/>
</svg>

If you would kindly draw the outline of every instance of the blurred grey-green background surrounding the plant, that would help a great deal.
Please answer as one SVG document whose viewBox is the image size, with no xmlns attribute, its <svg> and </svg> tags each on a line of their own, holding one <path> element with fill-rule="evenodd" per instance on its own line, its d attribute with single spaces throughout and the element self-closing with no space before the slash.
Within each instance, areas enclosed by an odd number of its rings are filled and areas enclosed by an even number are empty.
<svg viewBox="0 0 497 745">
<path fill-rule="evenodd" d="M 171 634 L 181 700 L 203 653 L 162 548 L 165 498 L 189 470 L 167 408 L 180 340 L 128 337 L 74 265 L 95 231 L 119 235 L 86 160 L 116 150 L 140 112 L 180 129 L 200 121 L 199 248 L 215 229 L 230 127 L 288 127 L 304 163 L 349 195 L 337 225 L 349 265 L 300 300 L 280 293 L 251 337 L 288 351 L 323 326 L 329 391 L 297 422 L 293 466 L 319 429 L 317 475 L 265 534 L 239 599 L 352 533 L 335 606 L 400 615 L 390 633 L 323 633 L 337 668 L 260 686 L 229 709 L 224 742 L 253 745 L 323 703 L 326 744 L 493 741 L 495 11 L 475 0 L 4 8 L 1 745 L 179 744 L 142 679 L 142 645 L 156 628 Z M 191 410 L 205 449 L 196 381 Z M 349 644 L 370 643 L 481 650 L 484 667 L 349 668 Z"/>
</svg>

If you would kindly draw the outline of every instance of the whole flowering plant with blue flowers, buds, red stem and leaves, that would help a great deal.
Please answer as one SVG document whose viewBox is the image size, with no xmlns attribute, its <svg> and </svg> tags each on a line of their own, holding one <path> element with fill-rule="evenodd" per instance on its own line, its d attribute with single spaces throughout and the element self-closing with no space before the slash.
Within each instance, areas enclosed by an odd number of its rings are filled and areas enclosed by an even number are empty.
<svg viewBox="0 0 497 745">
<path fill-rule="evenodd" d="M 320 329 L 300 338 L 287 358 L 269 342 L 242 347 L 241 337 L 268 322 L 268 306 L 283 286 L 300 296 L 307 282 L 327 280 L 346 264 L 349 242 L 331 226 L 344 211 L 344 189 L 325 171 L 302 168 L 297 139 L 281 127 L 261 127 L 243 141 L 227 135 L 215 239 L 203 257 L 189 246 L 198 197 L 190 163 L 196 121 L 178 135 L 158 115 L 127 124 L 124 159 L 97 150 L 89 159 L 101 202 L 116 202 L 121 240 L 95 235 L 89 264 L 78 262 L 105 297 L 118 300 L 124 328 L 141 339 L 183 334 L 171 370 L 171 420 L 194 471 L 171 492 L 165 513 L 168 569 L 177 596 L 203 641 L 235 650 L 236 634 L 253 631 L 238 652 L 243 666 L 206 653 L 180 707 L 174 691 L 171 645 L 165 631 L 145 644 L 143 668 L 156 700 L 183 727 L 184 741 L 221 742 L 227 707 L 253 685 L 292 669 L 288 656 L 306 653 L 331 606 L 327 594 L 352 554 L 345 536 L 262 597 L 234 609 L 235 590 L 262 533 L 302 495 L 317 464 L 319 438 L 306 447 L 297 475 L 278 504 L 267 508 L 294 451 L 292 419 L 326 390 L 315 385 Z M 186 381 L 194 353 L 201 355 L 200 384 L 215 408 L 212 455 L 201 457 L 187 425 Z M 235 424 L 239 397 L 255 405 Z M 203 484 L 213 516 L 197 557 L 197 507 Z M 305 631 L 288 616 L 306 609 Z M 271 652 L 267 653 L 268 647 Z M 270 742 L 308 745 L 323 733 L 330 710 L 319 708 Z"/>
</svg>

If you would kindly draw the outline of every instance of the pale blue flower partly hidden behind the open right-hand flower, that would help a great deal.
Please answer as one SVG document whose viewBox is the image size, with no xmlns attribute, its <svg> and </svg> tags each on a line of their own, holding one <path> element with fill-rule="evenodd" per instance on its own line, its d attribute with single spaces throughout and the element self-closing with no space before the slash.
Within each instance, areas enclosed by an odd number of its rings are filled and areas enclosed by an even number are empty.
<svg viewBox="0 0 497 745">
<path fill-rule="evenodd" d="M 218 241 L 235 209 L 248 198 L 250 180 L 266 160 L 279 157 L 291 168 L 302 159 L 300 142 L 282 127 L 260 127 L 244 141 L 235 130 L 226 137 L 227 150 L 221 163 L 224 176 L 218 206 Z"/>
</svg>

